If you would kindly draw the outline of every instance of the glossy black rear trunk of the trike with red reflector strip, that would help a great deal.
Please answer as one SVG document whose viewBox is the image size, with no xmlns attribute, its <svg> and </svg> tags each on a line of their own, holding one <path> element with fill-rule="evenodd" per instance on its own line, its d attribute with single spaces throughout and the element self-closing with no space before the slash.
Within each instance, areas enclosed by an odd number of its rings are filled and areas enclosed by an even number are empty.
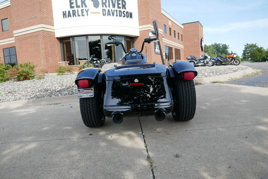
<svg viewBox="0 0 268 179">
<path fill-rule="evenodd" d="M 105 71 L 104 107 L 170 103 L 165 65 L 127 65 Z"/>
</svg>

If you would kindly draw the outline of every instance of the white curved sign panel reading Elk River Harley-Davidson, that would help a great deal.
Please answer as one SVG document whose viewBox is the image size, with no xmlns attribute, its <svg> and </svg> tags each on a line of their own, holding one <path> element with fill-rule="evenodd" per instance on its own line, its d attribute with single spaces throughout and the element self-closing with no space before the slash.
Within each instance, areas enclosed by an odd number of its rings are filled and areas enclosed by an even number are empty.
<svg viewBox="0 0 268 179">
<path fill-rule="evenodd" d="M 56 37 L 139 36 L 137 0 L 52 0 Z"/>
</svg>

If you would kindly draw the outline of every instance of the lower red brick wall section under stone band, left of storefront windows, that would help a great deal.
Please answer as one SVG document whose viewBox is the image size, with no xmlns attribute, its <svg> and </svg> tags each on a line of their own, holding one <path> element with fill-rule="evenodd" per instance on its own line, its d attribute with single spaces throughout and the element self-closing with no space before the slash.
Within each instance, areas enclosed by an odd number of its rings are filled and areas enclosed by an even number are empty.
<svg viewBox="0 0 268 179">
<path fill-rule="evenodd" d="M 15 44 L 18 63 L 31 61 L 37 65 L 37 72 L 47 69 L 50 73 L 59 66 L 60 42 L 55 38 L 55 33 L 42 30 L 16 36 Z"/>
</svg>

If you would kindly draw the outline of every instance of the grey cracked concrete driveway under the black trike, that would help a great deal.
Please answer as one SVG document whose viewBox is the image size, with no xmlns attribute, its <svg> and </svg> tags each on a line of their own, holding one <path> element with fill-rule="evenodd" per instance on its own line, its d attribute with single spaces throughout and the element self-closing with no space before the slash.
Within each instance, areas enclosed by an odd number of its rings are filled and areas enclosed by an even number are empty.
<svg viewBox="0 0 268 179">
<path fill-rule="evenodd" d="M 100 128 L 84 126 L 76 95 L 1 103 L 0 178 L 268 178 L 268 88 L 196 92 L 191 121 L 107 118 Z"/>
</svg>

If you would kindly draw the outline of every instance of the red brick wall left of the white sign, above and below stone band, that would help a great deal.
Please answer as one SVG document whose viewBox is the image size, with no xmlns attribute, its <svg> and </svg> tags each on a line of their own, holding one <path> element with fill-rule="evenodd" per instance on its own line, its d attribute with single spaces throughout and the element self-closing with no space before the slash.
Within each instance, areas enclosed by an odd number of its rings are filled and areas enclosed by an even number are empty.
<svg viewBox="0 0 268 179">
<path fill-rule="evenodd" d="M 0 9 L 1 19 L 9 19 L 10 30 L 0 33 L 0 40 L 13 38 L 13 31 L 39 24 L 54 26 L 51 0 L 24 1 L 10 0 L 10 6 Z M 41 30 L 15 36 L 15 43 L 0 45 L 0 49 L 16 47 L 18 63 L 33 62 L 36 71 L 46 69 L 55 72 L 61 61 L 60 41 L 55 33 Z M 4 63 L 3 51 L 0 50 L 0 62 Z"/>
</svg>

